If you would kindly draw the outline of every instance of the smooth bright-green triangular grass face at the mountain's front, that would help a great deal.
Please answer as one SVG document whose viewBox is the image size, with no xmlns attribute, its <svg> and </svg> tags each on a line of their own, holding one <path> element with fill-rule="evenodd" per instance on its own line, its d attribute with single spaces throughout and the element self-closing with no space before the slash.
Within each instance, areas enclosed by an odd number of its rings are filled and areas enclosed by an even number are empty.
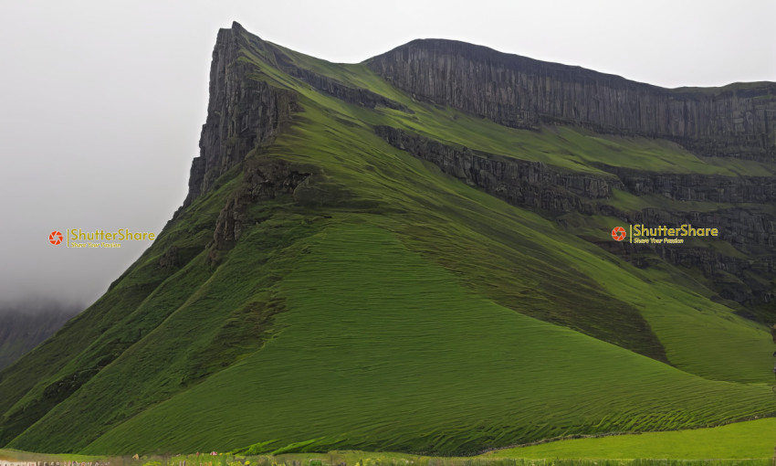
<svg viewBox="0 0 776 466">
<path fill-rule="evenodd" d="M 288 312 L 262 351 L 85 451 L 195 450 L 197 426 L 215 450 L 301 440 L 312 451 L 472 453 L 771 407 L 768 387 L 688 376 L 467 292 L 362 218 L 334 217 L 298 247 L 304 254 L 281 282 Z"/>
</svg>

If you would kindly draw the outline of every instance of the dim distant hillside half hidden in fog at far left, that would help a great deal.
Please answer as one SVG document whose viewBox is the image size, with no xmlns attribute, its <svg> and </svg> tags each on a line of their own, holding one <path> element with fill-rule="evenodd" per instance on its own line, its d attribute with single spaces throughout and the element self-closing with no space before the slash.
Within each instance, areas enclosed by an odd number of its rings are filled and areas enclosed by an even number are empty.
<svg viewBox="0 0 776 466">
<path fill-rule="evenodd" d="M 0 308 L 0 370 L 59 330 L 82 308 L 21 303 Z"/>
</svg>

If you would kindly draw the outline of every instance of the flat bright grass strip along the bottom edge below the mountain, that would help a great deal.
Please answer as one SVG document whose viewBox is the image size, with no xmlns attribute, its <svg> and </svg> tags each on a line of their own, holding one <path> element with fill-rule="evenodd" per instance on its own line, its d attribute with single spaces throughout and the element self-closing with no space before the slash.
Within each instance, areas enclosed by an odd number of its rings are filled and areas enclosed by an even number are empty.
<svg viewBox="0 0 776 466">
<path fill-rule="evenodd" d="M 139 461 L 85 455 L 41 455 L 0 450 L 0 461 L 105 461 L 117 464 L 186 464 L 238 466 L 624 466 L 624 465 L 771 465 L 776 446 L 776 418 L 739 422 L 710 429 L 647 432 L 601 438 L 556 440 L 539 445 L 495 450 L 476 457 L 425 457 L 385 451 L 330 450 L 328 452 L 251 455 L 230 452 L 216 457 L 145 456 Z M 155 461 L 155 462 L 154 462 Z"/>
</svg>

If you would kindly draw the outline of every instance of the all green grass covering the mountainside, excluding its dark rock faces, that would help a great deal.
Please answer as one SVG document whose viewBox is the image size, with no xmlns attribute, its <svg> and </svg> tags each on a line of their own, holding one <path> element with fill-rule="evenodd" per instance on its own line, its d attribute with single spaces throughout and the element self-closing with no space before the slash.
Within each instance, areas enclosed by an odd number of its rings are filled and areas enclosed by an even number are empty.
<svg viewBox="0 0 776 466">
<path fill-rule="evenodd" d="M 367 109 L 310 89 L 265 53 L 241 59 L 297 91 L 304 110 L 247 164 L 284 159 L 309 168 L 309 183 L 250 207 L 216 266 L 206 245 L 244 183 L 242 166 L 224 175 L 100 302 L 2 373 L 0 444 L 469 453 L 776 413 L 764 327 L 687 286 L 684 271 L 636 269 L 442 175 L 371 125 L 582 171 L 757 167 L 665 142 L 511 130 L 414 102 L 362 65 L 291 54 L 413 112 Z M 615 221 L 588 220 L 602 238 Z M 179 265 L 161 267 L 173 247 Z"/>
</svg>

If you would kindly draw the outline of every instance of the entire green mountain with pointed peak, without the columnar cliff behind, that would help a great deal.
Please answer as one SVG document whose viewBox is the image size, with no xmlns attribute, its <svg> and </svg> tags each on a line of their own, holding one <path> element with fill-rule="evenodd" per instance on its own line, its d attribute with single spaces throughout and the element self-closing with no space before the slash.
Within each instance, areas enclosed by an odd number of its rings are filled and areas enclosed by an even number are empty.
<svg viewBox="0 0 776 466">
<path fill-rule="evenodd" d="M 771 160 L 512 128 L 373 63 L 219 31 L 184 206 L 0 374 L 0 445 L 467 454 L 776 413 Z M 720 237 L 611 237 L 685 218 Z"/>
</svg>

